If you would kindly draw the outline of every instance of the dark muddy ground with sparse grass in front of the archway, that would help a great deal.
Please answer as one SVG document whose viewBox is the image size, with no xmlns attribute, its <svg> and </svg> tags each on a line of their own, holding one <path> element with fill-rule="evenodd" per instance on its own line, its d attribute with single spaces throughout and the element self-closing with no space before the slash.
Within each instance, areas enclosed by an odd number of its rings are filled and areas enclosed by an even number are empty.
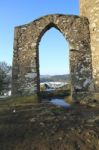
<svg viewBox="0 0 99 150">
<path fill-rule="evenodd" d="M 0 107 L 0 150 L 99 150 L 99 104 Z"/>
</svg>

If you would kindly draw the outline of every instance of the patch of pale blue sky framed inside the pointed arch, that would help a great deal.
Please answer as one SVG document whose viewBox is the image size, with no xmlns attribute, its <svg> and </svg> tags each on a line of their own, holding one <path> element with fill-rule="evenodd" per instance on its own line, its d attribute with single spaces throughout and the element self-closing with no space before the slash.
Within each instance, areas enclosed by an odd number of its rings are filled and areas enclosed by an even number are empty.
<svg viewBox="0 0 99 150">
<path fill-rule="evenodd" d="M 42 37 L 39 58 L 41 74 L 69 73 L 69 43 L 57 29 L 51 28 Z"/>
</svg>

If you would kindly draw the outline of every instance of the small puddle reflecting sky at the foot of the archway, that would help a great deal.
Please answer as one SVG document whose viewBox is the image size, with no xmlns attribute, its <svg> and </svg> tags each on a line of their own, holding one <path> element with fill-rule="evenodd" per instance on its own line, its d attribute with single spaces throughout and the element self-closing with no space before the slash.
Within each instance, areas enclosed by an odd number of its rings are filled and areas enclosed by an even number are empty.
<svg viewBox="0 0 99 150">
<path fill-rule="evenodd" d="M 70 104 L 66 103 L 64 101 L 64 99 L 51 99 L 50 101 L 51 104 L 54 104 L 54 105 L 57 105 L 57 106 L 62 106 L 62 107 L 65 107 L 65 108 L 69 108 L 70 107 Z"/>
</svg>

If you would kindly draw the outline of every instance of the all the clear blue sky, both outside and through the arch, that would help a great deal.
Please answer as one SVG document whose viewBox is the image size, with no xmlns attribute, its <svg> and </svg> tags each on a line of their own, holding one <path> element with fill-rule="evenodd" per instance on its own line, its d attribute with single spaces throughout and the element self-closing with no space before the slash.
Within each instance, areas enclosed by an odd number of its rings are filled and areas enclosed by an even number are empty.
<svg viewBox="0 0 99 150">
<path fill-rule="evenodd" d="M 79 0 L 0 0 L 0 61 L 12 65 L 15 26 L 56 13 L 79 15 Z M 68 43 L 58 30 L 52 28 L 44 34 L 39 50 L 41 74 L 69 72 Z"/>
</svg>

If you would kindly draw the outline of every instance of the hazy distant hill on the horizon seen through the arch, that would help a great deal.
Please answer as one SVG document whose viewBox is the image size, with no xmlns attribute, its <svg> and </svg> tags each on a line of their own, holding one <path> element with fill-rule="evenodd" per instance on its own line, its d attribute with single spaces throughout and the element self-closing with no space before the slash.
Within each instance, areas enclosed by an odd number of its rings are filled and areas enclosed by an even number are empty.
<svg viewBox="0 0 99 150">
<path fill-rule="evenodd" d="M 40 82 L 69 82 L 70 75 L 41 75 Z"/>
</svg>

